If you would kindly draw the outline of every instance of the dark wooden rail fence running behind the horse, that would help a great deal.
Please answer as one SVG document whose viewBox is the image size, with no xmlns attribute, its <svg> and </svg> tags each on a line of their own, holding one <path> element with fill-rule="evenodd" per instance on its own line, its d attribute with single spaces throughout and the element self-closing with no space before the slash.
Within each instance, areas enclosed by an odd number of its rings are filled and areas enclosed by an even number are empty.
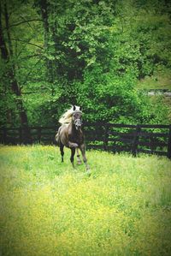
<svg viewBox="0 0 171 256">
<path fill-rule="evenodd" d="M 55 127 L 0 128 L 0 143 L 54 144 Z M 139 152 L 171 158 L 171 125 L 130 125 L 112 123 L 84 124 L 85 144 L 88 149 L 110 152 Z"/>
</svg>

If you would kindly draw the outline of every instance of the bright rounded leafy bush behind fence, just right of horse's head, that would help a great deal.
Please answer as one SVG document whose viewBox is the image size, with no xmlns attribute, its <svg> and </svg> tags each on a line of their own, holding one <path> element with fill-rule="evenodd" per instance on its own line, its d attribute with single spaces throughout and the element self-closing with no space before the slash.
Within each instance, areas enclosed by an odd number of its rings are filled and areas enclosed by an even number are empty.
<svg viewBox="0 0 171 256">
<path fill-rule="evenodd" d="M 131 74 L 116 76 L 104 74 L 101 68 L 94 68 L 85 74 L 80 86 L 79 102 L 86 106 L 85 112 L 91 121 L 111 120 L 120 122 L 121 118 L 135 116 L 140 108 L 140 99 L 133 89 Z"/>
</svg>

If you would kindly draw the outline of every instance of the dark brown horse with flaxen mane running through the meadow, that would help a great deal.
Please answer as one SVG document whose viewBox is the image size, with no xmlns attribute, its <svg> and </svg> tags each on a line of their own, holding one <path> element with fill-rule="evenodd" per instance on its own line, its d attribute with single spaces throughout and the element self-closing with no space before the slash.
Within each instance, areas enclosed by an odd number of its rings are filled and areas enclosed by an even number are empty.
<svg viewBox="0 0 171 256">
<path fill-rule="evenodd" d="M 59 122 L 62 124 L 57 131 L 55 136 L 56 144 L 60 147 L 60 152 L 63 156 L 64 146 L 71 149 L 70 161 L 74 168 L 74 154 L 75 150 L 77 151 L 77 161 L 78 164 L 81 164 L 79 149 L 82 154 L 83 161 L 85 163 L 85 169 L 90 175 L 91 171 L 87 164 L 87 159 L 85 157 L 85 142 L 84 142 L 84 133 L 82 131 L 82 110 L 79 106 L 73 106 L 71 109 L 67 110 L 62 117 L 59 119 Z"/>
</svg>

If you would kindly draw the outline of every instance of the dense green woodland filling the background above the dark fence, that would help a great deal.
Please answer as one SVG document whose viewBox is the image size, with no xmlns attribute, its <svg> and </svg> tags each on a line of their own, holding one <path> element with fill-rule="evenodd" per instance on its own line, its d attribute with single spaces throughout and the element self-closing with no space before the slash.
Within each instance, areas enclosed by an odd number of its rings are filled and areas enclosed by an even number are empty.
<svg viewBox="0 0 171 256">
<path fill-rule="evenodd" d="M 171 122 L 141 88 L 170 74 L 167 0 L 1 0 L 0 55 L 2 127 L 56 125 L 70 104 L 87 121 Z"/>
</svg>

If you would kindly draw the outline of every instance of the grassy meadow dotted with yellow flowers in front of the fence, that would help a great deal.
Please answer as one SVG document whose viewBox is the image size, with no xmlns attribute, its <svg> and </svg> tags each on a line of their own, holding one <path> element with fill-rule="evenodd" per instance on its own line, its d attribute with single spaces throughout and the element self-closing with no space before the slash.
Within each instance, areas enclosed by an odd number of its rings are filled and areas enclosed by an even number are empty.
<svg viewBox="0 0 171 256">
<path fill-rule="evenodd" d="M 0 255 L 171 255 L 171 161 L 1 146 Z"/>
</svg>

